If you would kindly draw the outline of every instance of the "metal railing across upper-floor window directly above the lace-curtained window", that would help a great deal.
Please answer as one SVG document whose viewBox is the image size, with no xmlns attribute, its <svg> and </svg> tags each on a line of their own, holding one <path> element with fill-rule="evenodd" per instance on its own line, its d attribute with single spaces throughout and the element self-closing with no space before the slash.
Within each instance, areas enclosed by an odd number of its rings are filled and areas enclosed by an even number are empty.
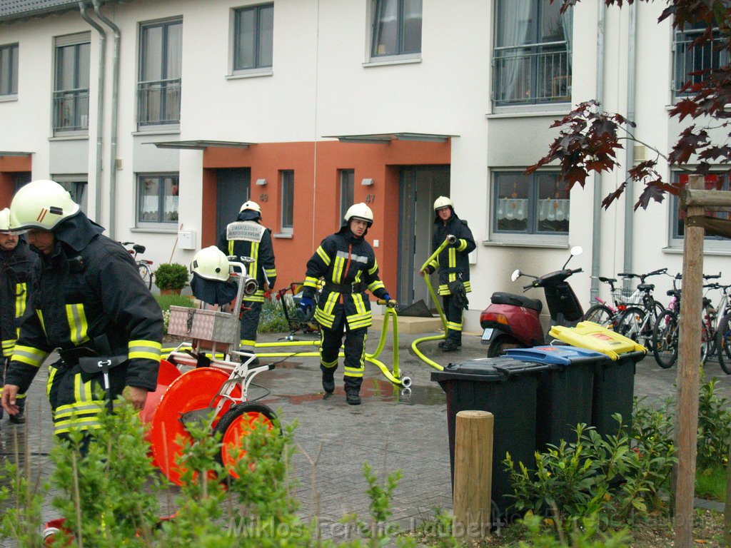
<svg viewBox="0 0 731 548">
<path fill-rule="evenodd" d="M 493 60 L 495 104 L 570 101 L 570 56 L 566 41 L 496 47 Z"/>
</svg>

